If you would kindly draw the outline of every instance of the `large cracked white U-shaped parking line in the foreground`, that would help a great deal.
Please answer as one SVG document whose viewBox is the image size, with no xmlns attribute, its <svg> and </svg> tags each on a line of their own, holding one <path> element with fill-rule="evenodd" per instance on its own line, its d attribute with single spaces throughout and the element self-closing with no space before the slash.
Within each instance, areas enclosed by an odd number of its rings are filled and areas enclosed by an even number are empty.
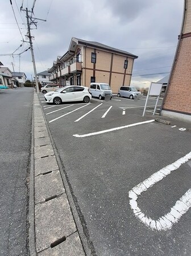
<svg viewBox="0 0 191 256">
<path fill-rule="evenodd" d="M 185 214 L 189 208 L 191 207 L 191 189 L 189 189 L 181 198 L 178 200 L 171 208 L 171 211 L 164 216 L 160 217 L 158 220 L 152 220 L 150 217 L 147 217 L 144 213 L 141 212 L 138 207 L 138 196 L 142 194 L 142 192 L 146 191 L 148 188 L 151 188 L 157 182 L 163 180 L 164 177 L 169 175 L 173 170 L 180 168 L 182 164 L 189 161 L 191 159 L 191 152 L 186 156 L 181 157 L 177 161 L 172 164 L 167 165 L 163 169 L 159 170 L 152 174 L 149 178 L 140 182 L 138 185 L 134 186 L 128 192 L 128 196 L 130 197 L 130 206 L 133 210 L 135 216 L 139 218 L 139 220 L 150 227 L 152 230 L 168 230 L 171 229 L 173 224 L 180 220 L 181 216 Z"/>
</svg>

